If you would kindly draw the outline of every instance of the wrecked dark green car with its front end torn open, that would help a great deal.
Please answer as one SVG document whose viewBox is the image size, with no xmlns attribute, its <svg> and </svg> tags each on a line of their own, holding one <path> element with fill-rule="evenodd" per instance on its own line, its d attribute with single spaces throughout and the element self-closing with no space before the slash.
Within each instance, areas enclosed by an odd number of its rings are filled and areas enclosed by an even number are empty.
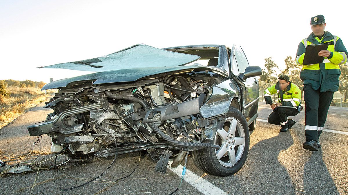
<svg viewBox="0 0 348 195">
<path fill-rule="evenodd" d="M 138 44 L 107 56 L 44 68 L 96 73 L 57 80 L 41 90 L 46 120 L 31 136 L 52 137 L 53 152 L 72 158 L 147 150 L 166 171 L 192 152 L 203 171 L 228 176 L 242 168 L 258 116 L 261 68 L 240 46 L 190 45 L 158 49 Z"/>
</svg>

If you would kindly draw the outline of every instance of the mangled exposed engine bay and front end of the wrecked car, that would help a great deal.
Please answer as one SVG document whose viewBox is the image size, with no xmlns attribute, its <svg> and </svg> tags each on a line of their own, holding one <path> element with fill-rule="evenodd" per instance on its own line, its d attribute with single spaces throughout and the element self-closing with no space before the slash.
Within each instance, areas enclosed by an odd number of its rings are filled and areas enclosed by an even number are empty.
<svg viewBox="0 0 348 195">
<path fill-rule="evenodd" d="M 203 142 L 223 126 L 225 113 L 204 118 L 200 108 L 225 80 L 205 71 L 120 85 L 76 83 L 46 102 L 45 108 L 54 112 L 42 124 L 28 127 L 29 133 L 47 134 L 52 152 L 68 148 L 73 158 L 148 150 L 152 159 L 163 161 L 156 170 L 165 172 L 173 154 L 183 158 L 181 151 L 219 149 Z"/>
</svg>

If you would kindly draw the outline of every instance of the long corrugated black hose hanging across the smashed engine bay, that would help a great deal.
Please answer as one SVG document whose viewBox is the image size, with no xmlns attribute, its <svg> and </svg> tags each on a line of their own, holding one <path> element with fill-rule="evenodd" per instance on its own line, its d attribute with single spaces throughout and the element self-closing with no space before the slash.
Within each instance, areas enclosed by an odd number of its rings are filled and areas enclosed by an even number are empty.
<svg viewBox="0 0 348 195">
<path fill-rule="evenodd" d="M 113 94 L 109 91 L 105 91 L 105 94 L 115 100 L 127 100 L 127 101 L 132 101 L 132 102 L 138 102 L 140 103 L 145 111 L 149 110 L 149 106 L 148 104 L 144 101 L 141 100 L 137 97 L 133 97 L 133 96 L 126 96 L 126 95 L 118 95 L 118 94 Z M 152 122 L 149 122 L 148 125 L 150 126 L 150 128 L 155 131 L 157 134 L 159 134 L 165 141 L 167 141 L 168 143 L 171 143 L 175 146 L 179 146 L 179 147 L 186 147 L 186 148 L 215 148 L 215 149 L 219 149 L 220 146 L 219 145 L 214 145 L 214 144 L 209 144 L 209 143 L 192 143 L 192 142 L 180 142 L 177 141 L 175 139 L 173 139 L 172 137 L 164 134 L 161 129 L 159 129 L 155 124 L 153 124 Z"/>
</svg>

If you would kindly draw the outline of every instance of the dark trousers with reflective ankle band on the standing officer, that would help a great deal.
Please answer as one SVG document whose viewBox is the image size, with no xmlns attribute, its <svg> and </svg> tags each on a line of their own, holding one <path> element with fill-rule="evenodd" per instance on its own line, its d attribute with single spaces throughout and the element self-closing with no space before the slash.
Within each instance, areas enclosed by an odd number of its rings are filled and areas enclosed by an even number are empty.
<svg viewBox="0 0 348 195">
<path fill-rule="evenodd" d="M 326 121 L 327 111 L 333 98 L 333 92 L 320 92 L 311 85 L 303 85 L 303 99 L 306 103 L 306 142 L 318 141 Z"/>
</svg>

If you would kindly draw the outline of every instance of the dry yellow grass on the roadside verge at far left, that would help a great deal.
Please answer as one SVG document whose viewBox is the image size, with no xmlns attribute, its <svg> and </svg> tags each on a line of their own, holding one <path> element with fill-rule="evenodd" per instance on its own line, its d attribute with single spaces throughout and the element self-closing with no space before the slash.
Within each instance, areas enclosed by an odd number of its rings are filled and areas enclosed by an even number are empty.
<svg viewBox="0 0 348 195">
<path fill-rule="evenodd" d="M 2 97 L 0 103 L 0 129 L 21 116 L 26 110 L 45 101 L 47 95 L 45 91 L 40 91 L 34 87 L 8 87 L 11 92 L 10 97 Z"/>
</svg>

